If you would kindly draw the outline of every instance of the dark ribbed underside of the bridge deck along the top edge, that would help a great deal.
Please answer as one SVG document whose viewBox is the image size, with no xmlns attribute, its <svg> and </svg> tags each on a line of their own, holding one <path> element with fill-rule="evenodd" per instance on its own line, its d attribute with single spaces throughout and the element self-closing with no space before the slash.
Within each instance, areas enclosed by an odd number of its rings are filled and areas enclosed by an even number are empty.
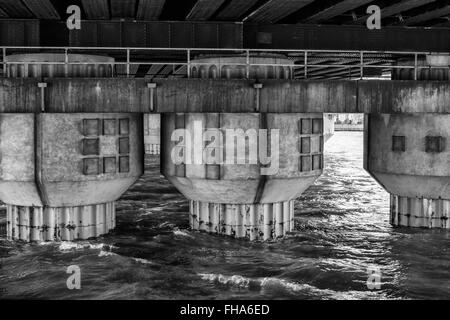
<svg viewBox="0 0 450 320">
<path fill-rule="evenodd" d="M 446 0 L 2 0 L 0 17 L 58 21 L 78 5 L 89 20 L 362 25 L 376 4 L 384 25 L 448 27 Z"/>
</svg>

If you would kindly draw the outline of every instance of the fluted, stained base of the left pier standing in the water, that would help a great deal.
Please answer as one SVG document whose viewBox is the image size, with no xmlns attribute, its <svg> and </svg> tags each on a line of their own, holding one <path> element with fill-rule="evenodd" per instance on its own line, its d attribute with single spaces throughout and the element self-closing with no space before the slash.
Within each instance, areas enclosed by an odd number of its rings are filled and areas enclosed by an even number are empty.
<svg viewBox="0 0 450 320">
<path fill-rule="evenodd" d="M 7 206 L 10 240 L 86 240 L 109 233 L 115 225 L 114 202 L 64 208 Z"/>
</svg>

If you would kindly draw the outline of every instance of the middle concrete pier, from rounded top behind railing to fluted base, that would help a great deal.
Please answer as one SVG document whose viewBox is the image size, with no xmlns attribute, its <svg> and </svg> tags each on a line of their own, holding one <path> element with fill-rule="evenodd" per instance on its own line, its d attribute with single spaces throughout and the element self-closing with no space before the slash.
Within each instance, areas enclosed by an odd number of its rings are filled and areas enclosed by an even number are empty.
<svg viewBox="0 0 450 320">
<path fill-rule="evenodd" d="M 282 56 L 202 57 L 201 78 L 290 78 Z M 224 100 L 226 101 L 226 100 Z M 190 202 L 194 230 L 250 240 L 283 237 L 294 228 L 294 199 L 323 170 L 323 114 L 163 114 L 161 171 Z M 175 133 L 175 134 L 174 134 Z"/>
</svg>

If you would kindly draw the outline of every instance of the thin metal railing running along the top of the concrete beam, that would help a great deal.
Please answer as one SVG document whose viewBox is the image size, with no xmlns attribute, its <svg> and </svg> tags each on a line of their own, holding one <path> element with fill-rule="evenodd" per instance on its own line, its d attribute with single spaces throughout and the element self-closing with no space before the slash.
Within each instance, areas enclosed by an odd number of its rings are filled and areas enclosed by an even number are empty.
<svg viewBox="0 0 450 320">
<path fill-rule="evenodd" d="M 12 47 L 2 48 L 3 72 L 8 70 L 8 65 L 12 64 L 33 64 L 33 65 L 112 65 L 115 69 L 121 69 L 118 75 L 126 77 L 135 76 L 133 68 L 139 66 L 162 66 L 171 67 L 172 75 L 180 72 L 182 76 L 191 77 L 193 66 L 211 65 L 211 63 L 201 63 L 197 59 L 202 56 L 232 56 L 239 55 L 245 57 L 245 63 L 227 62 L 226 66 L 245 67 L 245 77 L 250 77 L 252 67 L 286 67 L 290 69 L 292 79 L 316 79 L 316 78 L 339 78 L 352 79 L 365 78 L 365 70 L 378 69 L 383 72 L 395 69 L 413 69 L 414 79 L 422 69 L 443 69 L 450 66 L 427 66 L 420 65 L 419 61 L 428 55 L 450 55 L 450 53 L 434 52 L 399 52 L 399 51 L 365 51 L 365 50 L 289 50 L 289 49 L 217 49 L 217 48 L 132 48 L 132 47 Z M 64 54 L 64 61 L 54 62 L 23 62 L 7 61 L 6 57 L 12 54 L 24 53 L 61 53 Z M 71 54 L 95 54 L 114 57 L 114 62 L 76 62 L 70 61 Z M 279 54 L 290 60 L 292 63 L 252 63 L 252 57 L 261 54 Z M 161 56 L 163 55 L 163 56 Z M 167 56 L 167 58 L 166 58 Z M 166 60 L 167 59 L 167 60 Z M 403 60 L 402 65 L 396 62 Z M 331 61 L 331 62 L 330 62 Z M 406 61 L 406 63 L 405 63 Z M 219 61 L 219 70 L 220 69 Z M 184 69 L 186 68 L 185 72 Z M 342 72 L 340 72 L 342 70 Z M 320 72 L 318 72 L 320 71 Z M 345 73 L 348 72 L 346 75 Z M 380 72 L 378 72 L 380 73 Z M 147 74 L 145 74 L 147 75 Z M 145 76 L 144 75 L 144 76 Z M 148 74 L 157 76 L 157 74 Z M 170 70 L 168 75 L 170 75 Z M 219 77 L 221 72 L 219 72 Z M 334 76 L 334 77 L 333 77 Z"/>
</svg>

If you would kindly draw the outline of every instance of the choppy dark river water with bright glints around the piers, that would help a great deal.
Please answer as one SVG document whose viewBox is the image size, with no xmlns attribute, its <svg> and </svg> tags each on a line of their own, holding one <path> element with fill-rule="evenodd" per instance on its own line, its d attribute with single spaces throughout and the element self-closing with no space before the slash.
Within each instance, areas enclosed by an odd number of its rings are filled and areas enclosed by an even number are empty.
<svg viewBox="0 0 450 320">
<path fill-rule="evenodd" d="M 450 298 L 450 233 L 394 229 L 389 199 L 362 169 L 360 132 L 328 142 L 324 175 L 296 201 L 296 231 L 249 243 L 188 229 L 188 202 L 152 165 L 118 203 L 116 231 L 93 241 L 5 239 L 0 297 L 50 299 Z M 78 265 L 82 290 L 66 287 Z M 367 268 L 382 271 L 367 288 Z"/>
</svg>

